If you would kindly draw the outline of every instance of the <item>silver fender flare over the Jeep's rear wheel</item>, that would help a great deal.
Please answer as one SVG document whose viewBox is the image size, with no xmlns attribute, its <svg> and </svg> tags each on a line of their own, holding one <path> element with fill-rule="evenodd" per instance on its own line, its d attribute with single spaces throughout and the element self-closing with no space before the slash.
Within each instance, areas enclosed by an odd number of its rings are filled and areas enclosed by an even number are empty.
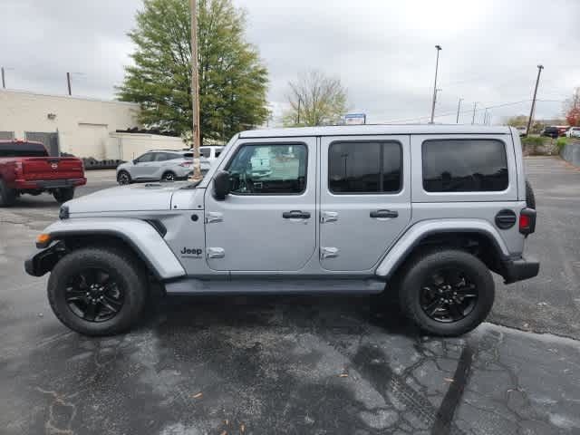
<svg viewBox="0 0 580 435">
<path fill-rule="evenodd" d="M 506 244 L 487 220 L 481 219 L 438 219 L 423 220 L 409 228 L 395 243 L 375 270 L 375 275 L 388 278 L 398 266 L 411 254 L 420 241 L 432 234 L 439 233 L 481 233 L 493 241 L 493 244 L 507 258 L 509 251 Z"/>
</svg>

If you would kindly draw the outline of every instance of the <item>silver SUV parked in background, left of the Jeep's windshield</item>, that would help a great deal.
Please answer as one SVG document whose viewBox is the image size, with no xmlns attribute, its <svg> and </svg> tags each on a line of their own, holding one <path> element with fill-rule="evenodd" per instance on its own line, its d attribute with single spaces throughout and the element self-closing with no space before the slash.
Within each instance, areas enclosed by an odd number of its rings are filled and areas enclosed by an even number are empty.
<svg viewBox="0 0 580 435">
<path fill-rule="evenodd" d="M 205 175 L 210 163 L 201 158 L 201 174 Z M 117 182 L 131 184 L 137 181 L 176 181 L 187 179 L 193 172 L 193 153 L 189 150 L 150 150 L 138 159 L 117 167 Z"/>
</svg>

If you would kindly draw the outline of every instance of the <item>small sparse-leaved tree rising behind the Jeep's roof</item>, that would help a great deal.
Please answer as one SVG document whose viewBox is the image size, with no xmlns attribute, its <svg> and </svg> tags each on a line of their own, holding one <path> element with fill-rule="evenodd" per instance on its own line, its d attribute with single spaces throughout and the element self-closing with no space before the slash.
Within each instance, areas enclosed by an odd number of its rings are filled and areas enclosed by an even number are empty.
<svg viewBox="0 0 580 435">
<path fill-rule="evenodd" d="M 290 109 L 282 120 L 285 127 L 337 124 L 347 111 L 346 89 L 340 79 L 309 71 L 300 73 L 288 87 Z"/>
</svg>

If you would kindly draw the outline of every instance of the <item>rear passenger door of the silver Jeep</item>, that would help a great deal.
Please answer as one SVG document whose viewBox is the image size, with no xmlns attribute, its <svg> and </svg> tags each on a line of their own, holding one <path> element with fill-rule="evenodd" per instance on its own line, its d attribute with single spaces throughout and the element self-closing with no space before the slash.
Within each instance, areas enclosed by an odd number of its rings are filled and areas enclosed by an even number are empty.
<svg viewBox="0 0 580 435">
<path fill-rule="evenodd" d="M 409 136 L 323 138 L 320 262 L 366 271 L 411 221 Z"/>
</svg>

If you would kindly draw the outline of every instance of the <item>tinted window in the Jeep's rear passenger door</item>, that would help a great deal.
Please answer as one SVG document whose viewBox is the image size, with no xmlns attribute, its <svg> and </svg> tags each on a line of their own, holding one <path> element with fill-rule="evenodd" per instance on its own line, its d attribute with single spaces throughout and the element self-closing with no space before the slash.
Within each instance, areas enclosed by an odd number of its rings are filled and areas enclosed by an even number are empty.
<svg viewBox="0 0 580 435">
<path fill-rule="evenodd" d="M 334 193 L 401 190 L 399 142 L 334 142 L 328 154 L 328 186 Z"/>
</svg>

